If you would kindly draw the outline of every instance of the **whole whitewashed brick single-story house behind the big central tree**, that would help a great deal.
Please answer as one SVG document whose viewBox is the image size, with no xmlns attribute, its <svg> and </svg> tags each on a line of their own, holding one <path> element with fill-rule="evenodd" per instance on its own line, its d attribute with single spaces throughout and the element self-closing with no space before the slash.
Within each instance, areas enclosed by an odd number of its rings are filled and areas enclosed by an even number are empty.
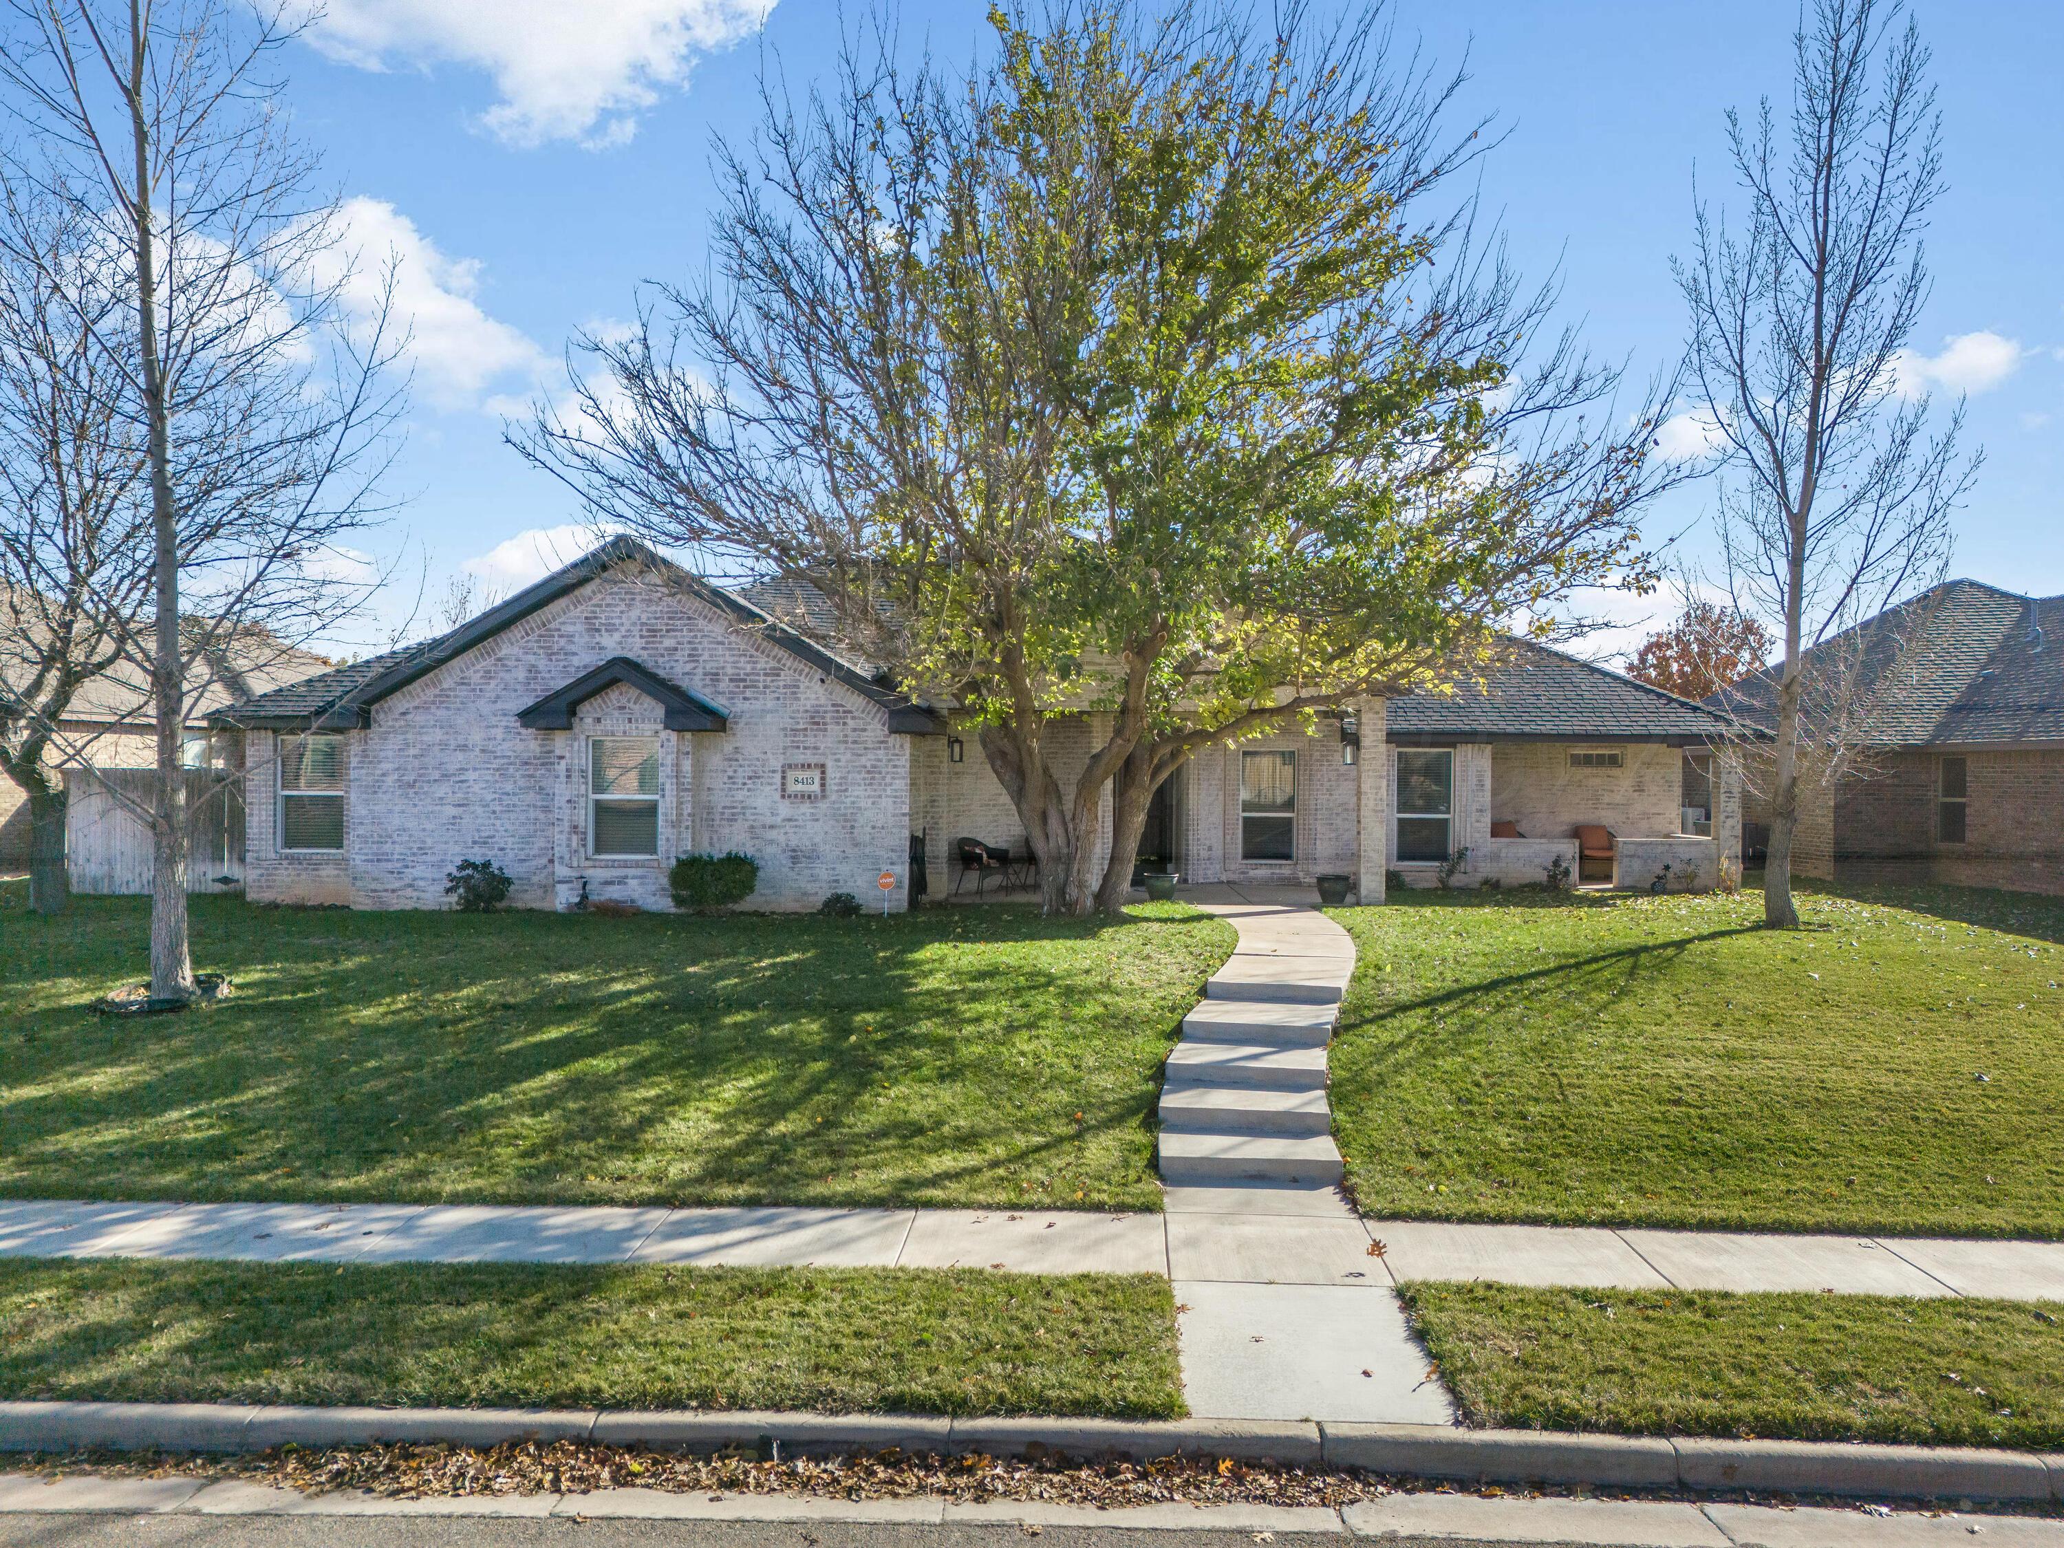
<svg viewBox="0 0 2064 1548">
<path fill-rule="evenodd" d="M 489 859 L 522 906 L 663 908 L 673 857 L 743 850 L 749 906 L 873 902 L 888 875 L 904 908 L 912 836 L 933 896 L 958 879 L 956 840 L 1024 844 L 972 737 L 749 596 L 611 539 L 452 634 L 219 712 L 248 741 L 250 896 L 438 908 L 456 861 Z M 1106 722 L 1063 718 L 1049 753 L 1079 768 Z M 1552 857 L 1575 869 L 1575 824 L 1602 824 L 1618 885 L 1666 863 L 1711 885 L 1738 834 L 1732 766 L 1707 753 L 1723 733 L 1515 644 L 1482 685 L 1207 749 L 1156 799 L 1143 850 L 1191 881 L 1344 871 L 1375 900 L 1385 869 L 1430 883 L 1463 846 L 1461 885 L 1540 881 Z"/>
</svg>

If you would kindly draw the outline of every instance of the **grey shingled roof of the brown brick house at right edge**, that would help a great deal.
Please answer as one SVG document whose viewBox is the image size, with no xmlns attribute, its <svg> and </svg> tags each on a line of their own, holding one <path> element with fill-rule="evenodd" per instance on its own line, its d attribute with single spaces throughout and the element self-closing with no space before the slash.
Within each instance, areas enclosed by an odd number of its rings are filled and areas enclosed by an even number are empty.
<svg viewBox="0 0 2064 1548">
<path fill-rule="evenodd" d="M 2064 741 L 2064 596 L 1946 580 L 1804 654 L 1853 671 L 1856 729 L 1878 747 Z M 1711 704 L 1773 727 L 1783 663 Z"/>
</svg>

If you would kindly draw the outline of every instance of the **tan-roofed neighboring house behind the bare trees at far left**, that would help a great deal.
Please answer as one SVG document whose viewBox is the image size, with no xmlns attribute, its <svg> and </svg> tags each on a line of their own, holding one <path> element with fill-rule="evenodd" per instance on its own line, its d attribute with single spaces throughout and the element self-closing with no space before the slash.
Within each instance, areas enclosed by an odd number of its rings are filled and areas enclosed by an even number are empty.
<svg viewBox="0 0 2064 1548">
<path fill-rule="evenodd" d="M 196 660 L 188 673 L 184 762 L 190 768 L 225 766 L 241 747 L 219 739 L 211 747 L 208 716 L 235 700 L 324 671 L 326 656 L 295 650 L 275 636 L 252 632 L 248 646 Z M 43 760 L 52 770 L 149 770 L 157 766 L 157 731 L 151 718 L 147 675 L 118 663 L 72 696 Z M 76 774 L 70 782 L 76 782 Z M 29 865 L 29 797 L 0 774 L 0 871 Z"/>
</svg>

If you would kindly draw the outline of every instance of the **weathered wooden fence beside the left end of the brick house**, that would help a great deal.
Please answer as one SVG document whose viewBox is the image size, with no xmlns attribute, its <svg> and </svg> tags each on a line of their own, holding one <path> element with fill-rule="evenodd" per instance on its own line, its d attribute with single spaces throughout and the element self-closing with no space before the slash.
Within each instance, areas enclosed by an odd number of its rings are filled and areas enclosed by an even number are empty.
<svg viewBox="0 0 2064 1548">
<path fill-rule="evenodd" d="M 151 768 L 64 770 L 64 863 L 72 892 L 151 892 L 151 830 L 114 791 L 149 807 L 155 784 L 157 770 Z M 241 776 L 188 770 L 186 803 L 192 834 L 186 890 L 244 885 Z"/>
</svg>

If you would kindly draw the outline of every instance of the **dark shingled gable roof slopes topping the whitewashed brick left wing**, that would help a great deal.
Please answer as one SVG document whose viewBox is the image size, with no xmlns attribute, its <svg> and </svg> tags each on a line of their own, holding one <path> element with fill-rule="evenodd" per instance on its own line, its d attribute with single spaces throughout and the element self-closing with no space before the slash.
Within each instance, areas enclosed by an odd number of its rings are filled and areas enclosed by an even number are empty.
<svg viewBox="0 0 2064 1548">
<path fill-rule="evenodd" d="M 702 580 L 702 576 L 694 576 L 681 566 L 663 559 L 644 543 L 630 537 L 609 539 L 601 547 L 574 559 L 570 566 L 553 570 L 537 584 L 516 592 L 506 603 L 489 607 L 477 619 L 460 623 L 450 634 L 440 634 L 436 640 L 425 640 L 423 644 L 407 646 L 402 650 L 390 650 L 384 656 L 374 656 L 372 660 L 359 660 L 351 667 L 310 677 L 308 681 L 293 683 L 291 687 L 272 694 L 260 694 L 217 712 L 213 718 L 225 724 L 260 731 L 343 731 L 349 727 L 372 724 L 372 706 L 380 700 L 398 694 L 409 687 L 409 683 L 438 671 L 438 667 L 444 667 L 475 646 L 493 640 L 504 630 L 520 623 L 545 607 L 551 607 L 561 596 L 576 592 L 580 586 L 586 586 L 590 580 L 617 566 L 636 566 L 665 578 L 667 584 L 689 592 L 698 601 L 708 603 L 716 611 L 731 617 L 741 627 L 753 630 L 764 640 L 780 646 L 809 667 L 815 667 L 821 675 L 838 681 L 865 698 L 869 704 L 881 708 L 888 716 L 890 731 L 906 735 L 945 733 L 945 720 L 908 696 L 898 694 L 892 687 L 883 687 L 859 667 L 840 660 L 821 646 L 805 640 L 788 625 L 774 621 L 743 596 L 735 596 L 718 586 L 712 586 Z"/>
</svg>

